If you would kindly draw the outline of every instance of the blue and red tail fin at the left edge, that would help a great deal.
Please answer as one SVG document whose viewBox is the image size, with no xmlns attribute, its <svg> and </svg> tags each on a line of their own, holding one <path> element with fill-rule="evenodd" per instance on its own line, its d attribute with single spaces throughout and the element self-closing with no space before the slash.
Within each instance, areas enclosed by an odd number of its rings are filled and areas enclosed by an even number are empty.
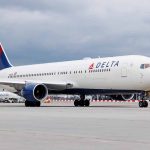
<svg viewBox="0 0 150 150">
<path fill-rule="evenodd" d="M 0 43 L 0 70 L 12 67 L 11 63 L 9 62 L 7 55 L 3 49 L 2 44 Z"/>
</svg>

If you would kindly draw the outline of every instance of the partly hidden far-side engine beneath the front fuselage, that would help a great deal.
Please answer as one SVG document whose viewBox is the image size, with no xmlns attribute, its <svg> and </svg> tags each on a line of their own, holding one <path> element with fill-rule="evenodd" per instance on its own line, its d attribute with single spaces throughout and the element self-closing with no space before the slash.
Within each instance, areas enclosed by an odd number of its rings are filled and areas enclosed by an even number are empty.
<svg viewBox="0 0 150 150">
<path fill-rule="evenodd" d="M 132 100 L 134 98 L 134 94 L 122 94 L 122 95 L 111 95 L 110 96 L 113 100 Z"/>
</svg>

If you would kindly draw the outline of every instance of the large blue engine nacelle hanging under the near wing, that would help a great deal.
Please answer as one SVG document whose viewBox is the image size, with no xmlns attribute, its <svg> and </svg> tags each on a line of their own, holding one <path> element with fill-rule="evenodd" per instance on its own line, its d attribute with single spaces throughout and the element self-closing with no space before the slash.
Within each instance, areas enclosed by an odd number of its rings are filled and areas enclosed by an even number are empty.
<svg viewBox="0 0 150 150">
<path fill-rule="evenodd" d="M 48 95 L 48 89 L 44 84 L 28 83 L 21 95 L 28 101 L 43 101 Z"/>
</svg>

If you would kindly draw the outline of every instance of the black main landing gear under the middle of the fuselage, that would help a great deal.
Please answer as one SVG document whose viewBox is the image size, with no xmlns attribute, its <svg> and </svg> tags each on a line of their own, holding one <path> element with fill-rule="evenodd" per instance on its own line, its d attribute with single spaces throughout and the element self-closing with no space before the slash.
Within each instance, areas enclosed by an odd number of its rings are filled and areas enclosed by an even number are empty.
<svg viewBox="0 0 150 150">
<path fill-rule="evenodd" d="M 85 95 L 80 95 L 80 99 L 76 99 L 74 101 L 74 106 L 78 107 L 78 106 L 81 106 L 81 107 L 88 107 L 90 106 L 90 100 L 88 99 L 85 99 Z"/>
</svg>

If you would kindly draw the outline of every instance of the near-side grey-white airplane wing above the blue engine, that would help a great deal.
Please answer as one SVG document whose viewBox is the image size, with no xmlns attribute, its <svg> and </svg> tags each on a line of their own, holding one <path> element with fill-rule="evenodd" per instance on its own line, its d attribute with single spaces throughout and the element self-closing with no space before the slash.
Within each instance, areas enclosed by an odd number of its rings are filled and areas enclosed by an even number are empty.
<svg viewBox="0 0 150 150">
<path fill-rule="evenodd" d="M 4 86 L 9 86 L 9 87 L 12 87 L 14 88 L 15 90 L 17 91 L 20 91 L 23 89 L 23 87 L 26 85 L 26 84 L 44 84 L 48 90 L 57 90 L 57 91 L 60 91 L 60 90 L 65 90 L 65 89 L 70 89 L 73 87 L 73 83 L 71 82 L 41 82 L 41 81 L 15 81 L 15 80 L 11 80 L 11 81 L 0 81 L 0 84 L 1 85 L 4 85 Z"/>
</svg>

